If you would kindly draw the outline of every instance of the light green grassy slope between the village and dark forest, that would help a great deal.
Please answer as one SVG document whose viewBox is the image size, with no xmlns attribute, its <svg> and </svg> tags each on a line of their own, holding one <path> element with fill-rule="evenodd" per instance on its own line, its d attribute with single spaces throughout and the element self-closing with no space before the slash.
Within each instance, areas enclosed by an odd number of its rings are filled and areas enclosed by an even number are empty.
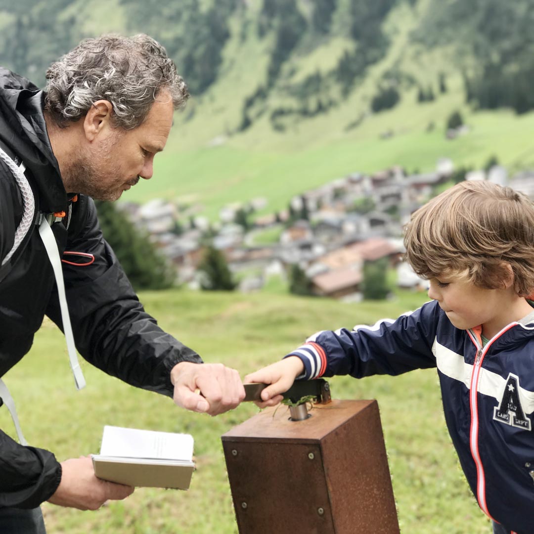
<svg viewBox="0 0 534 534">
<path fill-rule="evenodd" d="M 429 4 L 421 0 L 415 14 Z M 411 7 L 400 4 L 386 20 L 391 39 L 386 57 L 368 70 L 349 98 L 328 113 L 289 119 L 284 132 L 273 130 L 264 114 L 245 132 L 232 133 L 240 120 L 242 100 L 262 83 L 268 60 L 268 43 L 259 41 L 252 27 L 246 45 L 234 33 L 225 49 L 223 75 L 176 117 L 166 151 L 156 158 L 153 180 L 139 184 L 124 199 L 181 198 L 197 202 L 214 218 L 222 206 L 236 199 L 263 196 L 269 199 L 266 210 L 274 211 L 286 207 L 290 195 L 350 172 L 373 172 L 395 164 L 428 171 L 443 156 L 457 166 L 482 166 L 492 154 L 511 171 L 530 166 L 534 113 L 477 111 L 468 106 L 450 49 L 427 51 L 410 41 L 417 23 Z M 286 65 L 290 80 L 299 81 L 317 71 L 327 73 L 333 58 L 348 46 L 344 38 L 332 39 L 310 54 L 294 57 Z M 395 108 L 370 113 L 376 87 L 391 70 L 432 84 L 436 100 L 418 104 L 418 86 L 412 85 L 402 88 Z M 437 90 L 441 72 L 447 84 L 443 94 Z M 276 106 L 283 99 L 281 91 L 274 92 L 267 105 Z M 470 132 L 447 140 L 445 124 L 456 110 Z M 391 136 L 382 139 L 384 132 Z"/>
</svg>

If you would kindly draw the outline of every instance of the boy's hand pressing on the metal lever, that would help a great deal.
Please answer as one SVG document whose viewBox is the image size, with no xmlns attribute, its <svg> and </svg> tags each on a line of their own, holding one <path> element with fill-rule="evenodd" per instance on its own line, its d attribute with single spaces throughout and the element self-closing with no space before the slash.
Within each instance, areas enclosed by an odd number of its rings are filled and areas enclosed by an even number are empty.
<svg viewBox="0 0 534 534">
<path fill-rule="evenodd" d="M 271 384 L 261 392 L 263 402 L 256 401 L 260 408 L 274 406 L 284 397 L 280 394 L 287 391 L 295 378 L 304 372 L 304 364 L 297 356 L 289 356 L 274 364 L 263 367 L 259 371 L 248 374 L 243 381 L 245 384 L 253 382 Z"/>
</svg>

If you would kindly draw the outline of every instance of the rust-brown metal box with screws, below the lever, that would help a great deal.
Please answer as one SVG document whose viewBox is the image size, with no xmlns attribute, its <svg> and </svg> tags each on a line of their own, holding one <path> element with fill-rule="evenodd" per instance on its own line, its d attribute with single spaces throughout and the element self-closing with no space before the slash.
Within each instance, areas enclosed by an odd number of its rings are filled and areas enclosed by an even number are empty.
<svg viewBox="0 0 534 534">
<path fill-rule="evenodd" d="M 270 408 L 222 436 L 240 534 L 399 534 L 376 400 L 292 421 Z"/>
</svg>

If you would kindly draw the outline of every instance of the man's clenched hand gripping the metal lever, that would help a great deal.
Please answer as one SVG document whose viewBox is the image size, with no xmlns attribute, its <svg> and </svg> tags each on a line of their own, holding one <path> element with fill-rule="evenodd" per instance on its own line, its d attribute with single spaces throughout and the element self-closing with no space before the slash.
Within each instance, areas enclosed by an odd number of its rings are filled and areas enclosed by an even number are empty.
<svg viewBox="0 0 534 534">
<path fill-rule="evenodd" d="M 180 362 L 172 368 L 170 380 L 174 402 L 193 412 L 218 415 L 232 410 L 245 398 L 239 373 L 222 364 Z"/>
</svg>

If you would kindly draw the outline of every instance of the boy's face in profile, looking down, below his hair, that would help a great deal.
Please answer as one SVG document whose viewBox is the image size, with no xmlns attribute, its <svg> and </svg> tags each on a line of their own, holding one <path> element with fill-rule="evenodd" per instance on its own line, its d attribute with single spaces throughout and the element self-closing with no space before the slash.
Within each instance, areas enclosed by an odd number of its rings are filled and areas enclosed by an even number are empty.
<svg viewBox="0 0 534 534">
<path fill-rule="evenodd" d="M 508 293 L 503 289 L 483 289 L 461 277 L 447 275 L 430 279 L 428 296 L 438 301 L 451 323 L 461 330 L 478 325 L 500 329 L 511 322 L 504 292 Z"/>
</svg>

